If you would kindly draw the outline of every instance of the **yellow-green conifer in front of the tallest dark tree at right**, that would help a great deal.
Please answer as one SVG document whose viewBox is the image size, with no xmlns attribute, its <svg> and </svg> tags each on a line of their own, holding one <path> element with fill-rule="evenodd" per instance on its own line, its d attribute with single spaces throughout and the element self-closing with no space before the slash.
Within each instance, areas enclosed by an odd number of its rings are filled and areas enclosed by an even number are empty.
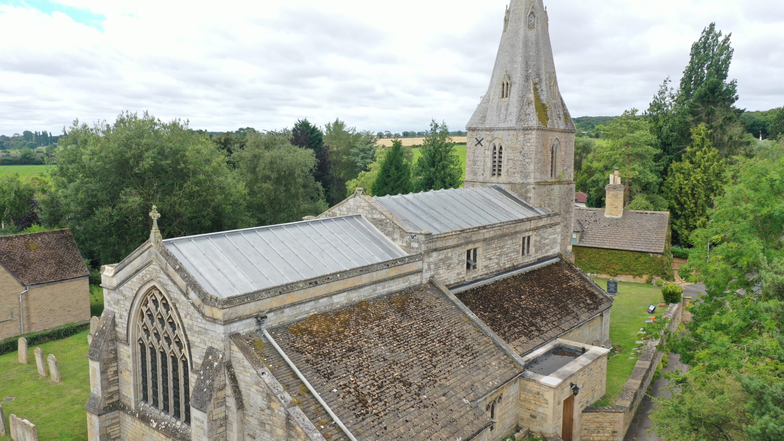
<svg viewBox="0 0 784 441">
<path fill-rule="evenodd" d="M 691 145 L 681 161 L 670 165 L 664 182 L 674 240 L 688 244 L 691 231 L 705 227 L 713 200 L 724 184 L 722 173 L 724 159 L 710 141 L 710 130 L 700 124 L 691 130 Z"/>
</svg>

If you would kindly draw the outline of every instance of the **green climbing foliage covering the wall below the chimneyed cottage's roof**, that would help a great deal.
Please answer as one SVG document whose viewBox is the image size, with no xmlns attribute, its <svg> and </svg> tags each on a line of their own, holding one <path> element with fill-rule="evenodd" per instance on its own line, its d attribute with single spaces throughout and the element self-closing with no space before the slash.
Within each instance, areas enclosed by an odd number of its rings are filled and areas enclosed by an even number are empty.
<svg viewBox="0 0 784 441">
<path fill-rule="evenodd" d="M 673 279 L 673 264 L 664 256 L 652 256 L 639 251 L 605 250 L 587 246 L 572 246 L 575 265 L 584 272 L 608 275 L 658 275 Z"/>
</svg>

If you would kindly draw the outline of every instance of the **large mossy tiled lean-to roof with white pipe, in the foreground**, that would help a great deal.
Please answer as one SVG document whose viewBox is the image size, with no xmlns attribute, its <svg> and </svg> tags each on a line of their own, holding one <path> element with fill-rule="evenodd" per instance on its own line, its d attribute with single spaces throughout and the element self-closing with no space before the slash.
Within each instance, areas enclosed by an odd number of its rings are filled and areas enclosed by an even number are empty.
<svg viewBox="0 0 784 441">
<path fill-rule="evenodd" d="M 269 332 L 360 440 L 471 439 L 491 425 L 476 400 L 521 372 L 430 284 Z M 300 407 L 317 428 L 328 425 L 272 344 L 262 355 L 289 393 L 307 398 Z"/>
</svg>

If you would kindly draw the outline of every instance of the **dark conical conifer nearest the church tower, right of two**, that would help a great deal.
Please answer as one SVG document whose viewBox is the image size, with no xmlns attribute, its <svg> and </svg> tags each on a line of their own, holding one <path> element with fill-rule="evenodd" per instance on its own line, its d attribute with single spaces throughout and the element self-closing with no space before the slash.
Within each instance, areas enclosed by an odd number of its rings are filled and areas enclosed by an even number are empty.
<svg viewBox="0 0 784 441">
<path fill-rule="evenodd" d="M 430 129 L 422 141 L 422 154 L 414 167 L 416 191 L 458 188 L 463 177 L 463 167 L 455 152 L 455 143 L 449 137 L 445 122 L 430 122 Z"/>
</svg>

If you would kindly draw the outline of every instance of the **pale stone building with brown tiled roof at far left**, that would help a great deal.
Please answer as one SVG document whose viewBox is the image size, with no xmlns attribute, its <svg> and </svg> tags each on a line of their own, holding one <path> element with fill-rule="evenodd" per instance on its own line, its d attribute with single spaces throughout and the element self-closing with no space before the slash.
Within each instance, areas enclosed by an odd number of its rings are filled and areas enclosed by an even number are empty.
<svg viewBox="0 0 784 441">
<path fill-rule="evenodd" d="M 0 339 L 89 321 L 88 278 L 67 228 L 0 235 Z"/>
</svg>

